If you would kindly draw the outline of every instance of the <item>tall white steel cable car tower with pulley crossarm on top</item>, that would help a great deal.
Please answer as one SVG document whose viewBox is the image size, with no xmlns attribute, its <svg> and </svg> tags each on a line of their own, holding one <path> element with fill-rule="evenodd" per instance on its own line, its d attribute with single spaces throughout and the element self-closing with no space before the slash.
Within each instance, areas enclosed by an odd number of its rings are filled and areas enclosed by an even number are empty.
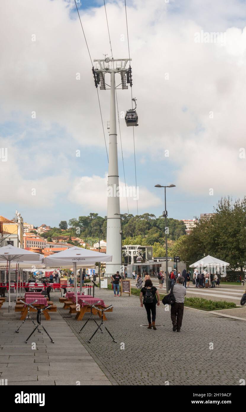
<svg viewBox="0 0 246 412">
<path fill-rule="evenodd" d="M 95 86 L 100 84 L 101 90 L 110 89 L 110 131 L 109 131 L 109 175 L 107 187 L 107 254 L 112 255 L 112 261 L 106 263 L 105 276 L 109 277 L 120 272 L 122 264 L 121 252 L 121 216 L 120 199 L 118 193 L 118 155 L 117 155 L 117 130 L 115 89 L 118 86 L 128 89 L 132 86 L 131 67 L 126 67 L 129 59 L 95 59 L 96 68 L 92 69 Z M 105 83 L 105 74 L 110 73 L 110 86 Z M 115 74 L 121 75 L 121 83 L 115 85 Z M 108 86 L 108 87 L 106 87 Z"/>
</svg>

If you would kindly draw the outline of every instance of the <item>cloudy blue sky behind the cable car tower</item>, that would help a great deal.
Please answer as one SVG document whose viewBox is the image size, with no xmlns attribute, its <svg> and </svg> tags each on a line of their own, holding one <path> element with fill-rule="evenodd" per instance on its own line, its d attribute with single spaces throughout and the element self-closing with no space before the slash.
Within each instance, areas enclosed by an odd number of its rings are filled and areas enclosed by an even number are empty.
<svg viewBox="0 0 246 412">
<path fill-rule="evenodd" d="M 138 206 L 139 214 L 161 215 L 156 184 L 176 185 L 167 189 L 176 219 L 211 213 L 222 196 L 244 197 L 246 2 L 126 4 L 139 198 L 127 205 L 122 197 L 121 213 L 136 215 Z M 111 57 L 104 2 L 77 6 L 92 60 Z M 52 227 L 106 215 L 107 153 L 74 0 L 5 1 L 1 9 L 0 215 L 17 209 L 25 222 Z M 106 9 L 113 56 L 128 57 L 125 2 L 106 1 Z M 108 146 L 109 90 L 98 93 Z M 117 90 L 117 99 L 121 115 L 131 108 L 130 88 Z M 134 187 L 133 133 L 120 117 L 120 186 L 122 143 L 126 185 Z"/>
</svg>

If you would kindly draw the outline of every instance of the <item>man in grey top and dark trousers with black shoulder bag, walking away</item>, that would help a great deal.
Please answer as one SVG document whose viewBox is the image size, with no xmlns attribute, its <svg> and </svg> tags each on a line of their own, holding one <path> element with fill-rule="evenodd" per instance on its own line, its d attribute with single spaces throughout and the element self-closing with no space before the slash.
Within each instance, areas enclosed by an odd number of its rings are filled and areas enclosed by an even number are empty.
<svg viewBox="0 0 246 412">
<path fill-rule="evenodd" d="M 183 319 L 184 297 L 186 288 L 183 286 L 184 278 L 179 276 L 176 285 L 173 287 L 175 303 L 171 306 L 172 330 L 180 332 Z"/>
</svg>

